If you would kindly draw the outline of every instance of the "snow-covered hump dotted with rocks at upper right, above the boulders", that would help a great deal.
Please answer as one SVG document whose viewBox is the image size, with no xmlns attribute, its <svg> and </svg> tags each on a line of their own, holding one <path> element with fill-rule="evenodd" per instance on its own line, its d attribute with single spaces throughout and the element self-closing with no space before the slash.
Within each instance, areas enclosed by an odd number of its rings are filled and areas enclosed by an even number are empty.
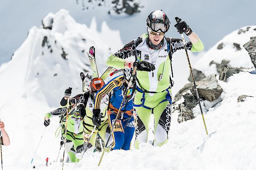
<svg viewBox="0 0 256 170">
<path fill-rule="evenodd" d="M 217 42 L 204 56 L 197 61 L 194 68 L 202 71 L 206 76 L 218 74 L 216 65 L 211 61 L 221 63 L 222 60 L 229 60 L 231 67 L 242 67 L 245 69 L 253 68 L 248 52 L 243 45 L 250 40 L 250 37 L 256 36 L 256 25 L 245 26 L 224 36 Z"/>
</svg>

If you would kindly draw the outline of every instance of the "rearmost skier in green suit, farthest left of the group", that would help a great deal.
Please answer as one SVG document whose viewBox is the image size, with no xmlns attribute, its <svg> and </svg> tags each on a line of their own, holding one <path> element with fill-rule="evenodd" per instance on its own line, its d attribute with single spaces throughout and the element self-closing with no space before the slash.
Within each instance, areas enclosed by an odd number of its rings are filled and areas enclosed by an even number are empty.
<svg viewBox="0 0 256 170">
<path fill-rule="evenodd" d="M 53 116 L 59 116 L 61 128 L 61 144 L 65 139 L 65 127 L 66 127 L 66 116 L 67 109 L 69 111 L 73 108 L 73 112 L 69 113 L 67 121 L 67 143 L 65 152 L 68 153 L 69 162 L 79 162 L 80 159 L 76 158 L 76 153 L 80 153 L 83 150 L 83 118 L 85 116 L 85 110 L 83 107 L 84 99 L 81 95 L 76 95 L 73 98 L 71 96 L 72 88 L 65 90 L 65 97 L 61 99 L 61 107 L 51 112 L 46 113 L 44 125 L 47 127 L 50 124 L 50 118 Z M 67 108 L 67 99 L 69 99 L 70 107 Z M 76 105 L 77 104 L 77 105 Z M 76 105 L 76 106 L 75 106 Z"/>
</svg>

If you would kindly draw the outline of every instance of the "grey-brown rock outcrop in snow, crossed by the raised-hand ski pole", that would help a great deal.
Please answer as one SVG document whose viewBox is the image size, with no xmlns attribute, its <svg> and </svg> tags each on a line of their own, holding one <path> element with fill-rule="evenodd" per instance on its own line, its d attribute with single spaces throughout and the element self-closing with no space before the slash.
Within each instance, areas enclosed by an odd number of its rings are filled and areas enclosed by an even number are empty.
<svg viewBox="0 0 256 170">
<path fill-rule="evenodd" d="M 206 99 L 209 101 L 215 101 L 219 99 L 221 92 L 223 91 L 221 86 L 218 84 L 216 75 L 212 74 L 201 81 L 196 82 L 197 90 L 200 99 Z M 184 101 L 181 101 L 181 98 Z M 195 87 L 193 83 L 187 83 L 178 93 L 174 96 L 174 103 L 180 100 L 182 103 L 177 103 L 174 110 L 179 110 L 178 122 L 187 121 L 194 118 L 192 109 L 198 104 L 197 96 L 195 94 Z M 173 111 L 174 111 L 173 110 Z"/>
</svg>

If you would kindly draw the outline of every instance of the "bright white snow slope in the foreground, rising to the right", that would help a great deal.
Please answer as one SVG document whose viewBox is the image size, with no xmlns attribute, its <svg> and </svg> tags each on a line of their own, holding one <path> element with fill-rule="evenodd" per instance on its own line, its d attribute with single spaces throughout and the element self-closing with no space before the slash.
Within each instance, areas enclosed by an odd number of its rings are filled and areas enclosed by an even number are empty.
<svg viewBox="0 0 256 170">
<path fill-rule="evenodd" d="M 256 98 L 237 103 L 237 97 L 256 96 L 256 75 L 241 72 L 219 83 L 223 101 L 204 117 L 208 136 L 200 113 L 179 124 L 178 113 L 174 112 L 166 145 L 141 144 L 139 150 L 115 150 L 104 155 L 100 167 L 97 164 L 101 153 L 87 153 L 79 163 L 65 164 L 65 169 L 254 170 Z M 61 169 L 61 163 L 43 169 Z"/>
</svg>

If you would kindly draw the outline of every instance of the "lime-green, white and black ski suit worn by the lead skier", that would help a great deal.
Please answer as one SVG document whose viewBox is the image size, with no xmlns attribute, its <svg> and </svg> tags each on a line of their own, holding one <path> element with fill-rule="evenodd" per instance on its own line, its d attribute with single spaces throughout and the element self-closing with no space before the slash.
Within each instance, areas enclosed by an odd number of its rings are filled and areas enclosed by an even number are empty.
<svg viewBox="0 0 256 170">
<path fill-rule="evenodd" d="M 156 67 L 154 71 L 137 71 L 136 73 L 137 87 L 134 96 L 135 148 L 139 148 L 140 143 L 147 142 L 151 113 L 154 114 L 154 146 L 161 146 L 168 141 L 171 122 L 171 56 L 169 56 L 169 50 L 171 51 L 170 54 L 173 55 L 177 50 L 184 49 L 181 39 L 164 38 L 163 47 L 159 50 L 152 50 L 146 43 L 147 37 L 148 34 L 145 34 L 142 37 L 142 42 L 136 45 L 138 58 L 135 57 L 136 40 L 132 40 L 115 54 L 109 56 L 107 60 L 108 66 L 121 69 L 124 69 L 124 62 L 127 58 L 129 61 L 148 61 Z M 192 52 L 204 49 L 200 40 L 195 44 L 186 42 L 186 47 Z M 126 69 L 128 77 L 131 72 L 132 69 Z"/>
</svg>

